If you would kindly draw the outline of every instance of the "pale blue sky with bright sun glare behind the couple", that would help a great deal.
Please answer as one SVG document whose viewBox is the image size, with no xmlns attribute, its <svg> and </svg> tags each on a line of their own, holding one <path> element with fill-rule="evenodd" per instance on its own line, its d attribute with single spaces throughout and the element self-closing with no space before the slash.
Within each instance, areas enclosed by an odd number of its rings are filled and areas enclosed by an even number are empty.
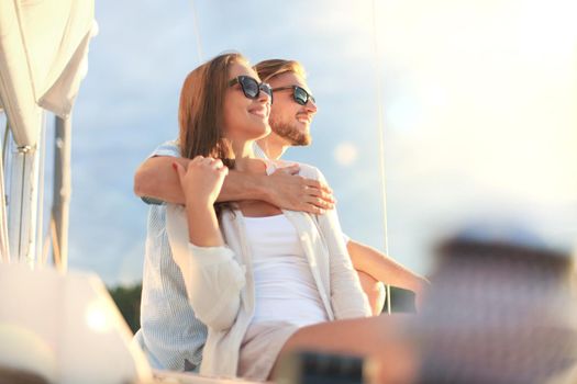
<svg viewBox="0 0 577 384">
<path fill-rule="evenodd" d="M 225 50 L 304 65 L 313 144 L 285 158 L 323 171 L 353 239 L 419 273 L 435 241 L 479 221 L 572 249 L 576 13 L 568 0 L 98 1 L 73 116 L 69 268 L 141 280 L 134 172 L 177 136 L 186 75 Z"/>
</svg>

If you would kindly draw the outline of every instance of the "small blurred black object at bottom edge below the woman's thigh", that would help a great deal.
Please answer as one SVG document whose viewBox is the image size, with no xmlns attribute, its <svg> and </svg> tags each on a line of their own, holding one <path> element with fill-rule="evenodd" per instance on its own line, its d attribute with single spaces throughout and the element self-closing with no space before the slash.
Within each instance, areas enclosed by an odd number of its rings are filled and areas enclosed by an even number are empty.
<svg viewBox="0 0 577 384">
<path fill-rule="evenodd" d="M 362 384 L 363 359 L 319 352 L 293 352 L 275 371 L 277 384 Z"/>
</svg>

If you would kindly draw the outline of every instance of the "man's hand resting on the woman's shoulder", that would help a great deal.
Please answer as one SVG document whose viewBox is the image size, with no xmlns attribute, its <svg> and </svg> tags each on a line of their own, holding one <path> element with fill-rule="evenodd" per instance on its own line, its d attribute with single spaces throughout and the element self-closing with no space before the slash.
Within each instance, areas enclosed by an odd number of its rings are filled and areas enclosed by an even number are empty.
<svg viewBox="0 0 577 384">
<path fill-rule="evenodd" d="M 280 208 L 322 214 L 334 208 L 333 191 L 318 180 L 303 178 L 299 166 L 276 170 L 266 177 L 266 201 Z"/>
</svg>

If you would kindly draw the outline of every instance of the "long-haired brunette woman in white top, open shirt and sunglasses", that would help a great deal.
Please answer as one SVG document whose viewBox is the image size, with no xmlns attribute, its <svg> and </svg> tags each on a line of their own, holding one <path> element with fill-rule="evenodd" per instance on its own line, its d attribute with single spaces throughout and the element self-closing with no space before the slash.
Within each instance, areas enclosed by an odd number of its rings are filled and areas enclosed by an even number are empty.
<svg viewBox="0 0 577 384">
<path fill-rule="evenodd" d="M 209 329 L 201 374 L 266 380 L 278 355 L 293 349 L 367 355 L 388 340 L 389 319 L 363 318 L 370 308 L 334 211 L 214 205 L 228 167 L 278 167 L 253 154 L 253 143 L 269 133 L 270 103 L 270 88 L 238 54 L 195 69 L 181 90 L 180 150 L 193 160 L 186 170 L 174 163 L 186 207 L 168 206 L 167 231 L 190 303 Z M 322 179 L 312 167 L 300 169 Z"/>
</svg>

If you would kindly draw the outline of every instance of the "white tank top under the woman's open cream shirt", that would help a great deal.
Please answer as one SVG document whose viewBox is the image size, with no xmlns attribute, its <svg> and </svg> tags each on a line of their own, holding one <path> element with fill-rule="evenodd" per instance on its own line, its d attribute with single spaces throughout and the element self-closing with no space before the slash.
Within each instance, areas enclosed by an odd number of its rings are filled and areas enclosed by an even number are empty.
<svg viewBox="0 0 577 384">
<path fill-rule="evenodd" d="M 306 326 L 329 320 L 295 226 L 282 214 L 245 217 L 244 222 L 256 293 L 252 325 Z"/>
</svg>

